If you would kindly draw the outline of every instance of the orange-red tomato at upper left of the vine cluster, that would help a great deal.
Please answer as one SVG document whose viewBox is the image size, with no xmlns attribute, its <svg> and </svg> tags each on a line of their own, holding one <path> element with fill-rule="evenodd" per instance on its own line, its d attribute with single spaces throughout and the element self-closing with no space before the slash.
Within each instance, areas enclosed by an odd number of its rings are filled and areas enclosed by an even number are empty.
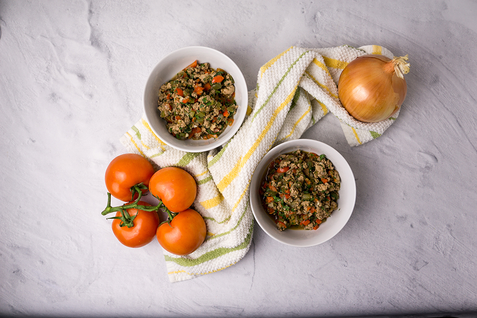
<svg viewBox="0 0 477 318">
<path fill-rule="evenodd" d="M 148 159 L 137 154 L 124 154 L 109 163 L 104 180 L 108 192 L 126 202 L 132 198 L 131 187 L 139 183 L 148 186 L 153 174 L 154 167 Z M 145 193 L 147 189 L 142 191 Z"/>
</svg>

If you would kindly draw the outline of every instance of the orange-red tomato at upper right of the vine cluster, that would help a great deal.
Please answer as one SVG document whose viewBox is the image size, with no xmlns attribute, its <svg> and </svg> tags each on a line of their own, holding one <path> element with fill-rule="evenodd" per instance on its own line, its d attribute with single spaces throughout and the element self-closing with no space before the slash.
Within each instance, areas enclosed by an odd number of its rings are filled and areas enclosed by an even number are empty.
<svg viewBox="0 0 477 318">
<path fill-rule="evenodd" d="M 170 211 L 181 212 L 194 203 L 197 184 L 184 169 L 165 167 L 151 177 L 149 191 L 157 196 Z"/>
</svg>

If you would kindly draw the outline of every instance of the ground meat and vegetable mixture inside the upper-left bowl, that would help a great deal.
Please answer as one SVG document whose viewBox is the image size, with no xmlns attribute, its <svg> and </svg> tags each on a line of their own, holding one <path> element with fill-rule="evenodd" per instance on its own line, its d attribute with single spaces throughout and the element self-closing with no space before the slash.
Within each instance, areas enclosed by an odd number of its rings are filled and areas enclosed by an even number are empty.
<svg viewBox="0 0 477 318">
<path fill-rule="evenodd" d="M 217 138 L 237 112 L 234 79 L 197 61 L 160 87 L 158 109 L 175 138 Z"/>
</svg>

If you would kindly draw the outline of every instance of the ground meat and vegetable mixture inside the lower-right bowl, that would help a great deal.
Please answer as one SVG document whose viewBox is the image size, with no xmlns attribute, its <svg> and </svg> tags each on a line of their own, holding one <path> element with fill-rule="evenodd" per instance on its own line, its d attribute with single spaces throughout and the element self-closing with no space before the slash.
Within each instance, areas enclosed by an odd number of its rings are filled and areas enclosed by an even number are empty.
<svg viewBox="0 0 477 318">
<path fill-rule="evenodd" d="M 338 171 L 325 155 L 297 150 L 270 163 L 260 195 L 278 230 L 316 230 L 337 209 L 339 186 Z"/>
</svg>

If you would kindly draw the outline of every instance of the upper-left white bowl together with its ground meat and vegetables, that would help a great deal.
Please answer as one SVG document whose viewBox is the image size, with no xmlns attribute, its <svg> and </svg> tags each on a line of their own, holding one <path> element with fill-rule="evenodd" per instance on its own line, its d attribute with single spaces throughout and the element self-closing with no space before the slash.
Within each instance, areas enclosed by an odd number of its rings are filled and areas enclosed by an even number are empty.
<svg viewBox="0 0 477 318">
<path fill-rule="evenodd" d="M 215 49 L 173 51 L 153 68 L 144 89 L 144 113 L 165 144 L 203 152 L 225 144 L 239 130 L 248 91 L 239 67 Z"/>
</svg>

